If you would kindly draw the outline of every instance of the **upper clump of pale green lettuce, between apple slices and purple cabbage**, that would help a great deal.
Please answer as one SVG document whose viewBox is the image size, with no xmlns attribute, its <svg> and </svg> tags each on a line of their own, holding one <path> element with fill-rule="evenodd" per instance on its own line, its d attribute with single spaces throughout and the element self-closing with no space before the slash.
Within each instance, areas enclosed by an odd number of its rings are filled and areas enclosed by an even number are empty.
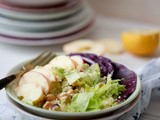
<svg viewBox="0 0 160 120">
<path fill-rule="evenodd" d="M 77 82 L 77 84 L 89 86 L 94 86 L 101 81 L 100 68 L 98 64 L 93 64 L 91 66 L 84 64 L 82 70 L 65 70 L 63 68 L 53 67 L 53 73 L 59 79 L 66 79 L 69 85 Z"/>
</svg>

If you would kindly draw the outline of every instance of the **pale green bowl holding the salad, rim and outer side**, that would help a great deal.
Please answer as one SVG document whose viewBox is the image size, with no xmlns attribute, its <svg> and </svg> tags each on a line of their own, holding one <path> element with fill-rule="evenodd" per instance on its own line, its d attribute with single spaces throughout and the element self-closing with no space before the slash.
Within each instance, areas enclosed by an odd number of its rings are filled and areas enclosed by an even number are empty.
<svg viewBox="0 0 160 120">
<path fill-rule="evenodd" d="M 16 71 L 18 71 L 22 66 L 23 66 L 24 62 L 21 64 L 18 64 L 17 66 L 15 66 L 8 74 L 13 74 Z M 75 112 L 58 112 L 58 111 L 48 111 L 48 110 L 44 110 L 42 108 L 38 108 L 35 106 L 31 106 L 28 105 L 26 103 L 23 103 L 21 100 L 19 100 L 15 94 L 15 92 L 13 91 L 13 86 L 15 87 L 18 83 L 18 80 L 14 80 L 11 84 L 9 84 L 6 87 L 6 92 L 8 94 L 8 96 L 15 101 L 16 103 L 18 103 L 19 105 L 23 106 L 26 110 L 30 111 L 31 113 L 38 115 L 38 116 L 43 116 L 46 118 L 52 118 L 52 119 L 87 119 L 87 118 L 95 118 L 95 117 L 100 117 L 100 116 L 105 116 L 105 115 L 109 115 L 112 112 L 115 111 L 119 111 L 119 109 L 125 107 L 126 105 L 130 104 L 132 101 L 134 101 L 137 96 L 140 94 L 140 90 L 141 90 L 141 84 L 140 84 L 140 79 L 137 77 L 137 84 L 136 84 L 136 89 L 135 91 L 122 103 L 114 106 L 114 107 L 110 107 L 110 108 L 106 108 L 103 110 L 99 110 L 99 111 L 91 111 L 91 112 L 79 112 L 79 113 L 75 113 Z"/>
</svg>

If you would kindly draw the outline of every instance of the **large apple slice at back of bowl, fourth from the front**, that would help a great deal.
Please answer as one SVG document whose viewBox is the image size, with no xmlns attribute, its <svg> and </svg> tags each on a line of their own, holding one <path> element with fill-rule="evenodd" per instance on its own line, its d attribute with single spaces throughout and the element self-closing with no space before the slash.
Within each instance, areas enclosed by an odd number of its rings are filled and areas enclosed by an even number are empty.
<svg viewBox="0 0 160 120">
<path fill-rule="evenodd" d="M 60 67 L 68 70 L 72 70 L 75 68 L 73 61 L 65 55 L 59 55 L 49 63 L 52 67 Z"/>
</svg>

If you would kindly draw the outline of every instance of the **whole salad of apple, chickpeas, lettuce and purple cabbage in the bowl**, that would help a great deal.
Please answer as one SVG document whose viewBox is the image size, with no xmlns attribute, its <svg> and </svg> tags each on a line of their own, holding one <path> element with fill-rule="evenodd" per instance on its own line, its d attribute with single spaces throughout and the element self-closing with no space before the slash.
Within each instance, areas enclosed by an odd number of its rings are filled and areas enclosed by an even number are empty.
<svg viewBox="0 0 160 120">
<path fill-rule="evenodd" d="M 67 115 L 123 107 L 138 96 L 140 83 L 122 64 L 95 54 L 74 53 L 57 55 L 45 66 L 36 66 L 6 90 L 25 107 Z"/>
</svg>

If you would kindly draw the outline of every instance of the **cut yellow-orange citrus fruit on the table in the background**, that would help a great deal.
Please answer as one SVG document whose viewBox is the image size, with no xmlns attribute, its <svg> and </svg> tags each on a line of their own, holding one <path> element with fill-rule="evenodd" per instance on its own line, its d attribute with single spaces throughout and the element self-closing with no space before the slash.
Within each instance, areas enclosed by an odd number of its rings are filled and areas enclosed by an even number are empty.
<svg viewBox="0 0 160 120">
<path fill-rule="evenodd" d="M 151 55 L 158 48 L 158 31 L 128 31 L 122 33 L 124 48 L 136 55 Z"/>
</svg>

